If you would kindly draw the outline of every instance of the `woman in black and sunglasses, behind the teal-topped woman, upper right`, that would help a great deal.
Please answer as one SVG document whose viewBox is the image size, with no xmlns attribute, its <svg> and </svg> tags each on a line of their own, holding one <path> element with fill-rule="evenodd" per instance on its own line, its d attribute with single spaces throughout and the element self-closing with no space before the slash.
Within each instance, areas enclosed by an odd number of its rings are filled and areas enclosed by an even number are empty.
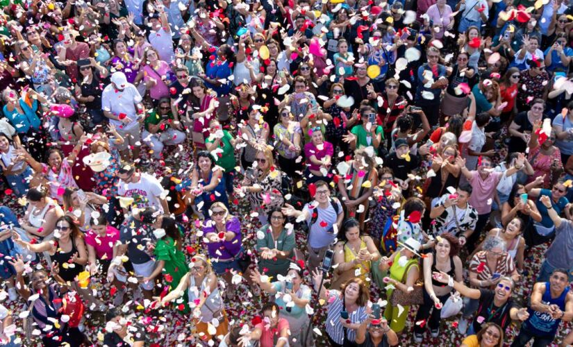
<svg viewBox="0 0 573 347">
<path fill-rule="evenodd" d="M 451 67 L 449 83 L 442 99 L 442 124 L 446 124 L 447 117 L 461 115 L 467 108 L 467 93 L 463 92 L 460 85 L 463 83 L 466 88 L 472 88 L 479 79 L 476 68 L 468 65 L 470 53 L 460 51 L 456 59 L 456 64 Z"/>
</svg>

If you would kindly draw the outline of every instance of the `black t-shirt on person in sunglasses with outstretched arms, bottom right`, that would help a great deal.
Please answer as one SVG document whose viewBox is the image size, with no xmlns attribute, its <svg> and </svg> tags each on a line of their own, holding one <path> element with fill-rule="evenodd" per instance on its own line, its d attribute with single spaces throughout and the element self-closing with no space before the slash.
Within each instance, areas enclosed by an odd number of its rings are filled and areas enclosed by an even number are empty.
<svg viewBox="0 0 573 347">
<path fill-rule="evenodd" d="M 501 326 L 501 329 L 505 331 L 509 323 L 511 323 L 509 312 L 513 307 L 517 308 L 517 306 L 509 299 L 505 305 L 497 307 L 493 303 L 495 291 L 479 289 L 479 292 L 481 295 L 479 297 L 479 307 L 474 316 L 474 330 L 478 332 L 483 324 L 493 322 Z M 479 317 L 482 317 L 482 319 Z"/>
</svg>

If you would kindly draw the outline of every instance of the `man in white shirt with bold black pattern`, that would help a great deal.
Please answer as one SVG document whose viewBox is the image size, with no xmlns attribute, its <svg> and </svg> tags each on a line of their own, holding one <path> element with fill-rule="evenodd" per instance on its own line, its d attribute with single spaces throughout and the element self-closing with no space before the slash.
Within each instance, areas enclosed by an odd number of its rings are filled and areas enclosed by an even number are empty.
<svg viewBox="0 0 573 347">
<path fill-rule="evenodd" d="M 456 194 L 446 193 L 432 202 L 430 219 L 435 223 L 431 225 L 434 237 L 449 232 L 458 237 L 460 246 L 467 242 L 476 228 L 478 213 L 472 205 L 467 203 L 472 195 L 472 186 L 460 185 Z"/>
</svg>

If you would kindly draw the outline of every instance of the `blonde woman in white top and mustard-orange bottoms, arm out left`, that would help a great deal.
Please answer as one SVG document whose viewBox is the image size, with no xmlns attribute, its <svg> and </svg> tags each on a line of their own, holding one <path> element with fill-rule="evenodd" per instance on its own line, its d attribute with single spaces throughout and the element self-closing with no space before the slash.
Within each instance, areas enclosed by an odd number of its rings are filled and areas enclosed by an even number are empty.
<svg viewBox="0 0 573 347">
<path fill-rule="evenodd" d="M 229 331 L 229 319 L 225 312 L 225 306 L 217 276 L 213 272 L 211 262 L 204 255 L 194 255 L 189 264 L 190 271 L 185 273 L 179 281 L 177 287 L 163 298 L 155 298 L 160 306 L 176 301 L 181 298 L 185 301 L 185 307 L 189 305 L 193 309 L 192 321 L 197 334 L 200 334 L 204 342 L 213 339 L 215 336 L 225 336 Z M 215 262 L 215 264 L 218 264 Z M 183 273 L 183 268 L 179 272 Z M 187 293 L 185 294 L 185 291 Z M 213 326 L 213 321 L 217 321 L 215 334 L 209 331 L 209 325 Z"/>
</svg>

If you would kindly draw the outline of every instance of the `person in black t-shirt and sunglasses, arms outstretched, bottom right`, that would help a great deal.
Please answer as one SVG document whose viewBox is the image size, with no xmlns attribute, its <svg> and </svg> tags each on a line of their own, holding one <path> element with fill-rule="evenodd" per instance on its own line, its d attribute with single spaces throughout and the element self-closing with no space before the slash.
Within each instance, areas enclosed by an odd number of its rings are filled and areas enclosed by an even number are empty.
<svg viewBox="0 0 573 347">
<path fill-rule="evenodd" d="M 466 287 L 463 282 L 457 282 L 454 278 L 443 272 L 433 272 L 432 278 L 438 282 L 452 285 L 461 295 L 470 299 L 479 300 L 479 307 L 474 315 L 474 322 L 467 332 L 467 335 L 473 335 L 481 330 L 483 324 L 488 322 L 496 323 L 506 330 L 511 320 L 525 321 L 529 318 L 529 313 L 525 307 L 517 308 L 517 305 L 511 299 L 511 293 L 515 287 L 515 282 L 509 277 L 502 277 L 497 280 L 495 290 L 491 289 L 472 289 Z M 495 284 L 495 283 L 493 283 Z M 458 331 L 465 333 L 467 320 L 461 319 L 458 325 Z"/>
</svg>

